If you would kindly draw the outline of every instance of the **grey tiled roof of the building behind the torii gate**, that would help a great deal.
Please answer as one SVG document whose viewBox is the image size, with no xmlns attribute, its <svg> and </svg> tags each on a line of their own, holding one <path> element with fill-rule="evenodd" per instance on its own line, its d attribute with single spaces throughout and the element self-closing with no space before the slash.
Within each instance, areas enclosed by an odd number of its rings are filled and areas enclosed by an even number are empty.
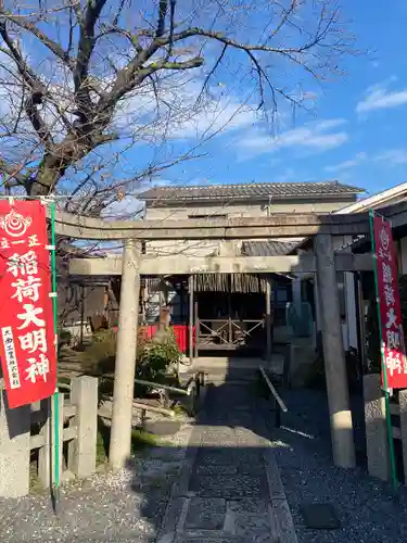
<svg viewBox="0 0 407 543">
<path fill-rule="evenodd" d="M 139 194 L 148 203 L 169 203 L 193 200 L 284 200 L 290 198 L 325 198 L 331 195 L 352 195 L 365 192 L 364 189 L 342 185 L 339 181 L 323 182 L 257 182 L 249 185 L 200 185 L 190 187 L 156 187 Z"/>
</svg>

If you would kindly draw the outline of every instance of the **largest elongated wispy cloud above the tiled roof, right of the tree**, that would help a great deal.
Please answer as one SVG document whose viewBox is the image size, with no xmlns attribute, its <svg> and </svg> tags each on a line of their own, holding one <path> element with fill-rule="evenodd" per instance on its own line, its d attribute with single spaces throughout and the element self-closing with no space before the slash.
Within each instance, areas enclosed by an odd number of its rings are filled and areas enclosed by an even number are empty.
<svg viewBox="0 0 407 543">
<path fill-rule="evenodd" d="M 276 138 L 265 134 L 246 136 L 242 138 L 239 146 L 250 156 L 272 153 L 290 147 L 323 152 L 340 147 L 348 140 L 348 135 L 344 130 L 329 131 L 345 123 L 346 121 L 342 118 L 321 121 L 317 124 L 287 130 Z"/>
</svg>

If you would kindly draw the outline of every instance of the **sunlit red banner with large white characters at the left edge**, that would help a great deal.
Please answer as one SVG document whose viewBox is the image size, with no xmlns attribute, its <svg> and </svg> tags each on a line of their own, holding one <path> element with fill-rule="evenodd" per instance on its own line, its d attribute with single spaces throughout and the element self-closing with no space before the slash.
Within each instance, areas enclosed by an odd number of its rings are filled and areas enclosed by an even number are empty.
<svg viewBox="0 0 407 543">
<path fill-rule="evenodd" d="M 46 207 L 0 200 L 0 355 L 9 407 L 53 394 L 56 353 Z"/>
</svg>

